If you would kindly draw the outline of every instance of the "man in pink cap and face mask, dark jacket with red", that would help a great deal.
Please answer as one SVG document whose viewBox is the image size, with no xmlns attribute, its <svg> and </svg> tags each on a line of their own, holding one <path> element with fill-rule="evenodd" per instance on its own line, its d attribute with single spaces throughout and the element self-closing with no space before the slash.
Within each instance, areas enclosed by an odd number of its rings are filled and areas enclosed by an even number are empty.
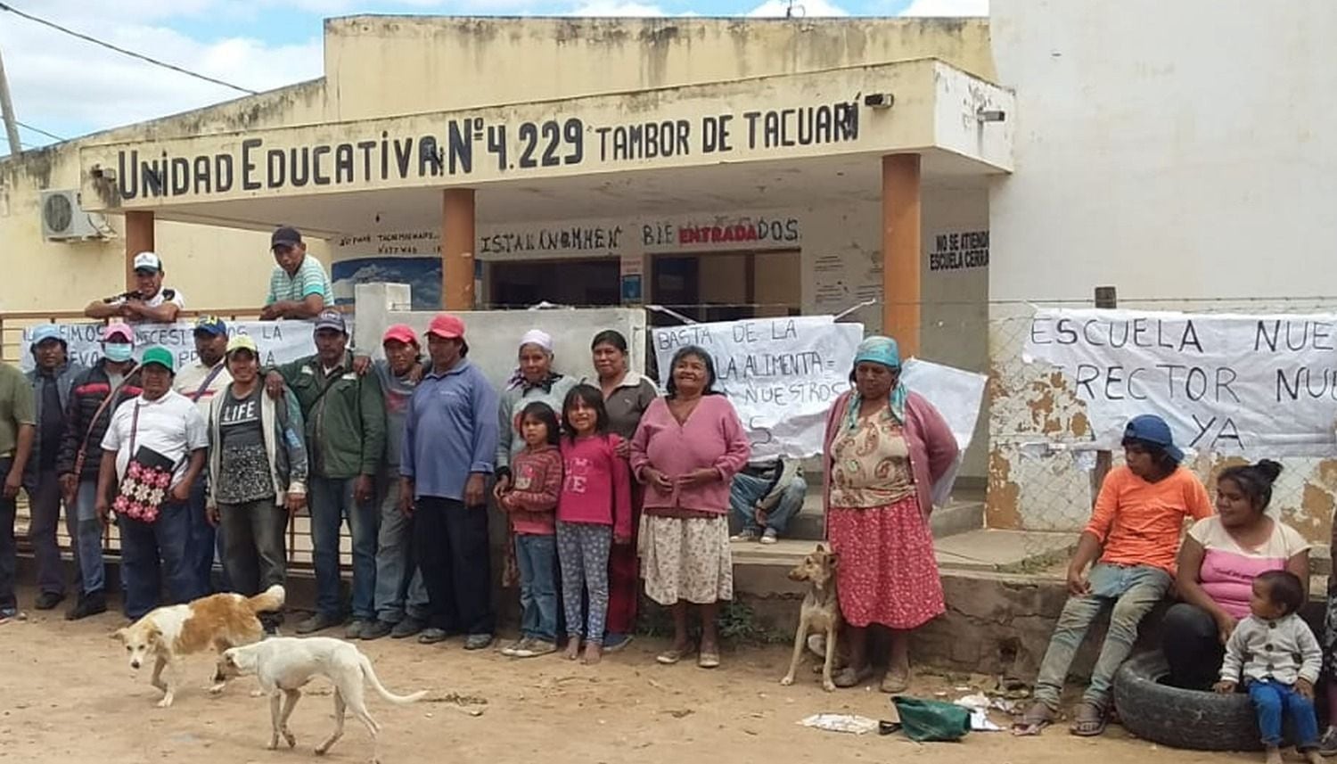
<svg viewBox="0 0 1337 764">
<path fill-rule="evenodd" d="M 56 456 L 56 474 L 66 506 L 74 507 L 78 520 L 74 543 L 82 583 L 79 602 L 66 614 L 71 621 L 107 611 L 103 524 L 95 508 L 98 468 L 111 413 L 140 393 L 134 351 L 135 333 L 128 325 L 107 326 L 102 335 L 102 360 L 75 377 L 66 405 L 66 429 Z"/>
</svg>

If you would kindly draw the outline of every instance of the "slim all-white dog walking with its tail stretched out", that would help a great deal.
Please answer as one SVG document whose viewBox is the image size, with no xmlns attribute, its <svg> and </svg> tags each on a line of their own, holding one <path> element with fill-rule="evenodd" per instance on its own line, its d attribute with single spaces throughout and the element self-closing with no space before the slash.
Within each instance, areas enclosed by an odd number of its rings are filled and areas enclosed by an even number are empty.
<svg viewBox="0 0 1337 764">
<path fill-rule="evenodd" d="M 278 748 L 279 735 L 287 741 L 289 748 L 297 747 L 297 737 L 287 729 L 287 717 L 293 714 L 293 706 L 302 697 L 301 688 L 317 674 L 322 674 L 334 682 L 334 732 L 329 740 L 316 748 L 316 755 L 324 755 L 342 737 L 346 706 L 372 733 L 373 764 L 380 759 L 376 733 L 380 732 L 381 725 L 366 712 L 362 680 L 370 681 L 381 697 L 398 705 L 414 702 L 427 694 L 427 690 L 409 696 L 392 693 L 376 677 L 370 658 L 354 645 L 329 637 L 305 640 L 277 637 L 245 648 L 233 648 L 219 656 L 215 681 L 247 674 L 255 674 L 261 690 L 269 696 L 269 713 L 273 723 L 273 735 L 269 740 L 271 751 Z M 279 709 L 279 694 L 283 696 L 282 709 Z"/>
</svg>

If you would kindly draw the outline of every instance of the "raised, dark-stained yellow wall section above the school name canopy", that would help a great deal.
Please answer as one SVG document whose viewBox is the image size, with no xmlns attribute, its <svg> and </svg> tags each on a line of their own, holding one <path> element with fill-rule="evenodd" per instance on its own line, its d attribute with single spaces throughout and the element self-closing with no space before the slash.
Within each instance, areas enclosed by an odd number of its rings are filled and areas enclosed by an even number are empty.
<svg viewBox="0 0 1337 764">
<path fill-rule="evenodd" d="M 336 119 L 933 56 L 995 79 L 985 19 L 350 16 L 325 23 L 325 75 Z"/>
</svg>

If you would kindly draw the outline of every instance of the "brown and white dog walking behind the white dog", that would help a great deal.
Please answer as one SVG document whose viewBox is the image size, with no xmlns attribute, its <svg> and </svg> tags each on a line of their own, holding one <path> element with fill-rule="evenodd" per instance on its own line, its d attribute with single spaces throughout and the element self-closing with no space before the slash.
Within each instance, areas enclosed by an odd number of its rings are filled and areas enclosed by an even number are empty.
<svg viewBox="0 0 1337 764">
<path fill-rule="evenodd" d="M 283 587 L 274 585 L 255 597 L 214 594 L 187 605 L 168 605 L 111 634 L 120 640 L 130 654 L 130 668 L 138 670 L 148 657 L 155 658 L 152 685 L 163 692 L 158 708 L 171 705 L 175 696 L 176 665 L 185 656 L 213 649 L 218 653 L 238 645 L 258 642 L 265 634 L 257 613 L 283 606 Z M 163 669 L 171 672 L 163 676 Z M 221 682 L 210 692 L 223 689 Z"/>
</svg>

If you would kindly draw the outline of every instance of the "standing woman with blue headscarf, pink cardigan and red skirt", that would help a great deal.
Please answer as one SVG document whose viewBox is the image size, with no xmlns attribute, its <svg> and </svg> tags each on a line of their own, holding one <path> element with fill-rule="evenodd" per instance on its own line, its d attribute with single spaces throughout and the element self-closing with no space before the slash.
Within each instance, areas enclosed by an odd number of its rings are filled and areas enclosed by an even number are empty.
<svg viewBox="0 0 1337 764">
<path fill-rule="evenodd" d="M 882 690 L 909 686 L 909 632 L 941 615 L 943 582 L 928 516 L 933 484 L 956 462 L 956 438 L 923 396 L 901 384 L 896 340 L 858 345 L 850 381 L 826 415 L 826 537 L 840 557 L 836 583 L 849 665 L 838 686 L 868 680 L 868 628 L 892 632 Z"/>
</svg>

